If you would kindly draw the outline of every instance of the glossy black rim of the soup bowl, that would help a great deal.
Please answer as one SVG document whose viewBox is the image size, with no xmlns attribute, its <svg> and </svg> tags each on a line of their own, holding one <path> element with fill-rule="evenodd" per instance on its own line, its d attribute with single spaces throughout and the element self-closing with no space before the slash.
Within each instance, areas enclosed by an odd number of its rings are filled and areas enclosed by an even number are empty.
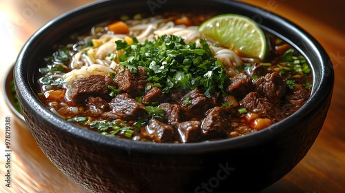
<svg viewBox="0 0 345 193">
<path fill-rule="evenodd" d="M 272 140 L 274 136 L 282 134 L 282 132 L 284 132 L 284 128 L 288 128 L 289 126 L 293 125 L 295 121 L 301 121 L 305 115 L 310 114 L 311 112 L 313 112 L 313 110 L 316 109 L 315 105 L 319 104 L 319 101 L 322 101 L 321 99 L 326 98 L 326 96 L 323 95 L 324 91 L 322 90 L 329 90 L 329 85 L 332 85 L 333 87 L 334 72 L 331 64 L 331 59 L 329 59 L 328 54 L 326 53 L 324 48 L 322 48 L 322 45 L 320 45 L 317 42 L 317 40 L 311 36 L 311 34 L 308 34 L 308 32 L 297 26 L 295 23 L 288 21 L 288 19 L 285 19 L 284 17 L 281 17 L 278 14 L 268 12 L 267 10 L 264 10 L 262 8 L 257 8 L 256 6 L 252 6 L 250 4 L 239 1 L 218 0 L 215 1 L 215 3 L 226 3 L 229 6 L 241 7 L 247 11 L 255 10 L 256 14 L 266 15 L 266 17 L 270 19 L 270 22 L 281 23 L 279 25 L 287 26 L 288 28 L 292 29 L 295 33 L 299 34 L 301 38 L 303 38 L 306 41 L 305 43 L 307 43 L 314 49 L 313 51 L 315 51 L 315 57 L 317 57 L 322 68 L 322 74 L 319 80 L 319 87 L 314 87 L 315 82 L 313 83 L 313 92 L 308 101 L 302 106 L 302 108 L 297 110 L 297 112 L 295 112 L 291 116 L 288 116 L 286 119 L 280 121 L 279 123 L 271 125 L 270 127 L 264 130 L 253 132 L 251 134 L 246 134 L 244 136 L 235 137 L 232 139 L 221 139 L 217 141 L 206 141 L 198 143 L 144 143 L 128 139 L 117 139 L 110 137 L 108 138 L 106 136 L 102 136 L 97 132 L 86 130 L 85 128 L 71 124 L 68 121 L 59 118 L 57 115 L 50 112 L 48 108 L 44 107 L 43 104 L 40 103 L 40 101 L 37 99 L 37 96 L 35 96 L 32 93 L 32 88 L 30 88 L 29 86 L 30 81 L 32 80 L 28 80 L 28 77 L 24 78 L 25 76 L 23 76 L 23 74 L 28 75 L 29 72 L 25 72 L 24 69 L 26 68 L 23 65 L 25 62 L 22 61 L 25 61 L 25 59 L 28 57 L 27 52 L 30 52 L 30 50 L 32 49 L 32 43 L 37 41 L 37 38 L 40 37 L 45 30 L 52 28 L 52 26 L 54 26 L 55 23 L 58 23 L 63 19 L 66 19 L 66 17 L 70 17 L 71 15 L 81 14 L 85 10 L 88 10 L 92 7 L 98 8 L 99 6 L 106 6 L 108 3 L 115 2 L 119 3 L 120 1 L 110 0 L 88 3 L 85 6 L 81 6 L 74 10 L 66 12 L 65 14 L 62 14 L 61 16 L 53 19 L 45 26 L 40 28 L 36 33 L 34 33 L 32 37 L 30 37 L 30 39 L 23 46 L 21 52 L 17 57 L 16 65 L 14 68 L 14 74 L 16 74 L 16 76 L 14 76 L 14 81 L 16 84 L 16 88 L 20 88 L 18 89 L 18 92 L 22 96 L 21 98 L 23 99 L 23 103 L 26 105 L 31 104 L 30 106 L 35 108 L 34 111 L 36 111 L 39 116 L 50 119 L 51 123 L 55 125 L 61 125 L 59 127 L 61 132 L 66 132 L 77 138 L 82 138 L 87 141 L 90 141 L 91 143 L 106 145 L 110 148 L 121 148 L 127 150 L 128 152 L 145 152 L 148 154 L 199 154 L 203 152 L 212 152 L 213 150 L 224 150 L 228 148 L 244 148 L 256 145 L 258 143 L 263 143 L 264 141 Z M 268 16 L 267 13 L 269 13 Z M 260 23 L 259 26 L 266 28 L 265 26 L 262 26 Z M 288 41 L 288 39 L 284 39 Z M 292 44 L 295 48 L 299 49 L 299 47 L 295 43 Z M 314 69 L 312 71 L 313 73 L 315 73 Z M 315 74 L 313 74 L 313 77 L 315 77 Z M 299 116 L 299 114 L 304 116 Z M 285 126 L 284 128 L 279 129 L 280 125 Z"/>
</svg>

